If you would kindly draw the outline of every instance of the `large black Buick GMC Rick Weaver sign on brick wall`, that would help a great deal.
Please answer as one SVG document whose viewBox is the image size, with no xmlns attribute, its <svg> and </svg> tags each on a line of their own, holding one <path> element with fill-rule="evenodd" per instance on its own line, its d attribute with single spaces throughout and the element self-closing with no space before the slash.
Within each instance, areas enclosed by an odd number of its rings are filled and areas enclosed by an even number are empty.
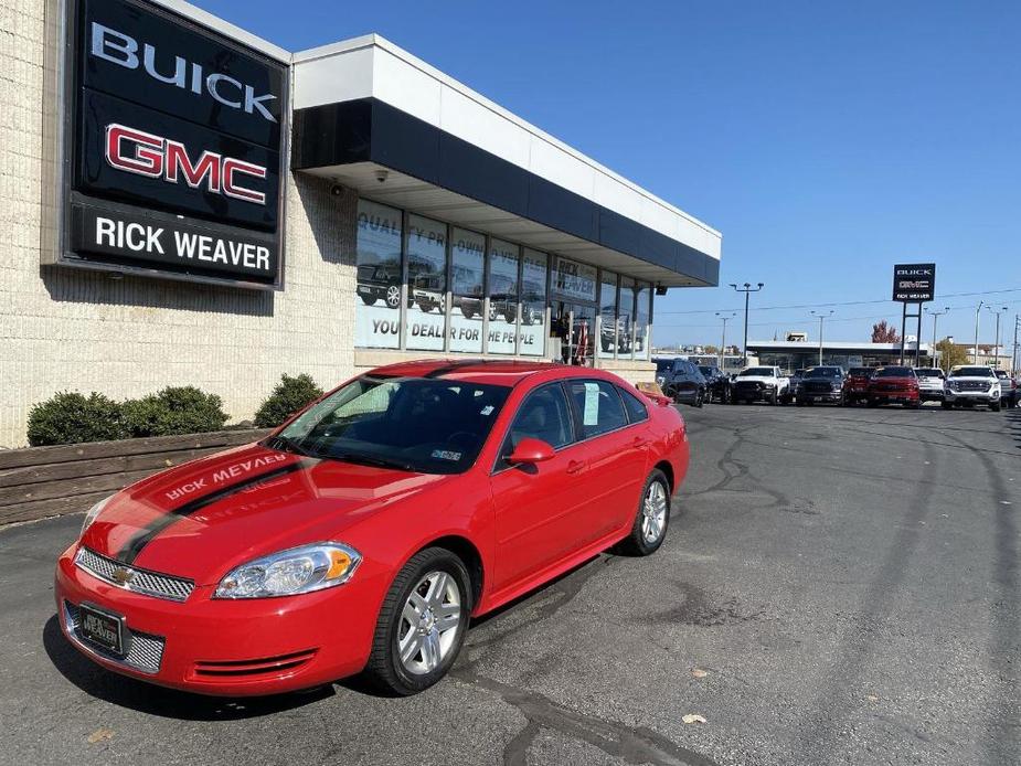
<svg viewBox="0 0 1021 766">
<path fill-rule="evenodd" d="M 287 67 L 140 0 L 65 0 L 51 263 L 279 287 Z"/>
</svg>

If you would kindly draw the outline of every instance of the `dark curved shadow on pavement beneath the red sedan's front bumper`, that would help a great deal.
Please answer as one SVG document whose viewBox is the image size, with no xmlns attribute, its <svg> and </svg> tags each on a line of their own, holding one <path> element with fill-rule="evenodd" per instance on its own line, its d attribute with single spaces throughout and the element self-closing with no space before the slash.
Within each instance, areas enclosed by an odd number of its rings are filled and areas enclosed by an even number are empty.
<svg viewBox="0 0 1021 766">
<path fill-rule="evenodd" d="M 53 667 L 78 689 L 96 699 L 149 715 L 184 721 L 256 719 L 301 708 L 334 694 L 332 687 L 258 698 L 191 694 L 118 675 L 92 662 L 64 638 L 56 615 L 46 621 L 42 638 Z"/>
</svg>

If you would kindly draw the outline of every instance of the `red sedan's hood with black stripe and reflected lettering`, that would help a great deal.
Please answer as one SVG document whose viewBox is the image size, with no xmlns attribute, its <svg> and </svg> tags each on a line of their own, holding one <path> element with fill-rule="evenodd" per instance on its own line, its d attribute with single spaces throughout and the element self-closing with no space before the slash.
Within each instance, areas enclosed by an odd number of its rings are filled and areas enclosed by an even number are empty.
<svg viewBox="0 0 1021 766">
<path fill-rule="evenodd" d="M 338 540 L 368 514 L 451 478 L 249 445 L 121 490 L 83 543 L 127 564 L 211 585 L 251 558 Z"/>
</svg>

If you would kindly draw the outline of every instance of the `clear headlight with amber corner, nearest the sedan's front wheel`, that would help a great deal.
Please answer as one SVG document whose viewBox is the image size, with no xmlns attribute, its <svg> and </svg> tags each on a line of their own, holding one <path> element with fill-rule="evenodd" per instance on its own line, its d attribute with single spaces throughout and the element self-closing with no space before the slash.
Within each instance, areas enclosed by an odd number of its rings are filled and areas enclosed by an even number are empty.
<svg viewBox="0 0 1021 766">
<path fill-rule="evenodd" d="M 347 583 L 361 561 L 358 551 L 340 543 L 291 547 L 230 572 L 213 597 L 270 598 L 322 591 Z"/>
</svg>

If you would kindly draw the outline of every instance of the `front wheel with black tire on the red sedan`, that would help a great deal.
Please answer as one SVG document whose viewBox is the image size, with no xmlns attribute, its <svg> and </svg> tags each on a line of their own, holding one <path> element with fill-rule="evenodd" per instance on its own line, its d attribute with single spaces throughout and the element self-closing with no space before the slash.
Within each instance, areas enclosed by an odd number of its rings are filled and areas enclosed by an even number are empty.
<svg viewBox="0 0 1021 766">
<path fill-rule="evenodd" d="M 407 696 L 439 681 L 465 642 L 471 587 L 464 562 L 443 547 L 419 551 L 394 578 L 365 666 L 368 680 Z"/>
</svg>

